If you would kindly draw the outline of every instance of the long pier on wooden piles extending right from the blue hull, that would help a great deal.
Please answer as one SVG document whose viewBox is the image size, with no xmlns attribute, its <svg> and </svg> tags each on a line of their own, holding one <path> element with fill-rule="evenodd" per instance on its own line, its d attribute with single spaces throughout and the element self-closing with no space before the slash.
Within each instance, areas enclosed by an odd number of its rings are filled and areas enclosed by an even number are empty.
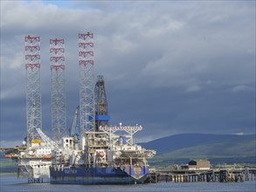
<svg viewBox="0 0 256 192">
<path fill-rule="evenodd" d="M 170 170 L 149 174 L 146 182 L 246 182 L 256 181 L 256 168 Z"/>
</svg>

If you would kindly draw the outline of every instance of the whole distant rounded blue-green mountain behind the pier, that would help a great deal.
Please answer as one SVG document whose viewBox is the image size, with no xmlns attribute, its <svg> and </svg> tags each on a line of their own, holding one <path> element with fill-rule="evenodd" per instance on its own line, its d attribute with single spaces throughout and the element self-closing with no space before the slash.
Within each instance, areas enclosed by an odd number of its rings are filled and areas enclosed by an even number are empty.
<svg viewBox="0 0 256 192">
<path fill-rule="evenodd" d="M 140 145 L 155 149 L 157 154 L 152 161 L 157 162 L 209 159 L 256 163 L 255 138 L 255 134 L 176 134 Z"/>
</svg>

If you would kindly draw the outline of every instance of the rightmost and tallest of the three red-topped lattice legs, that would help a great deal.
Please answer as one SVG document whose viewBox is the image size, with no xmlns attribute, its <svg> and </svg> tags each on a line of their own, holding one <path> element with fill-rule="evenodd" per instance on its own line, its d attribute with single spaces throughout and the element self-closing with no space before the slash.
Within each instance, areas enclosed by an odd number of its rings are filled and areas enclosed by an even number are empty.
<svg viewBox="0 0 256 192">
<path fill-rule="evenodd" d="M 94 131 L 94 80 L 93 80 L 93 33 L 79 34 L 80 64 L 80 136 L 85 131 Z"/>
</svg>

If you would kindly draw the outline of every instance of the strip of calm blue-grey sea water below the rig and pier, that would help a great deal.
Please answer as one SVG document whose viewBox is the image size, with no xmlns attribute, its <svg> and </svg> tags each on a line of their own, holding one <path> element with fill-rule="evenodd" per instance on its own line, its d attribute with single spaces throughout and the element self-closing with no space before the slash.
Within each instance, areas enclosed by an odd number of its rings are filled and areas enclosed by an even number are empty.
<svg viewBox="0 0 256 192">
<path fill-rule="evenodd" d="M 104 191 L 104 192 L 255 192 L 256 182 L 158 182 L 138 185 L 52 185 L 49 183 L 28 184 L 27 179 L 17 179 L 16 175 L 0 176 L 1 192 L 5 191 Z"/>
</svg>

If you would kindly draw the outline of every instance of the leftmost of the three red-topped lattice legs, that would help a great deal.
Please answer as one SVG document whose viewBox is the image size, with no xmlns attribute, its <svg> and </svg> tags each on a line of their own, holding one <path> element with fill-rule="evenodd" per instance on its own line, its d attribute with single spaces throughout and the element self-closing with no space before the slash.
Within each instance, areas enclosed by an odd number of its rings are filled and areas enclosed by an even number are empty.
<svg viewBox="0 0 256 192">
<path fill-rule="evenodd" d="M 40 82 L 40 38 L 27 36 L 25 41 L 26 126 L 27 144 L 39 139 L 36 128 L 42 129 Z"/>
</svg>

